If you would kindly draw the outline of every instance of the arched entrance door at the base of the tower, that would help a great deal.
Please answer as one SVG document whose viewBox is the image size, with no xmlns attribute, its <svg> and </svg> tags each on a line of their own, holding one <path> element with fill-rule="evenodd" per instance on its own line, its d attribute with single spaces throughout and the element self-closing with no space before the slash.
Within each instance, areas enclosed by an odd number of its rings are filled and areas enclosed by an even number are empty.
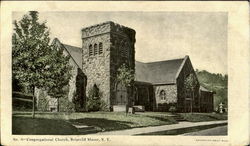
<svg viewBox="0 0 250 146">
<path fill-rule="evenodd" d="M 117 90 L 116 90 L 115 104 L 116 105 L 126 105 L 127 103 L 128 103 L 127 88 L 122 84 L 118 84 Z"/>
</svg>

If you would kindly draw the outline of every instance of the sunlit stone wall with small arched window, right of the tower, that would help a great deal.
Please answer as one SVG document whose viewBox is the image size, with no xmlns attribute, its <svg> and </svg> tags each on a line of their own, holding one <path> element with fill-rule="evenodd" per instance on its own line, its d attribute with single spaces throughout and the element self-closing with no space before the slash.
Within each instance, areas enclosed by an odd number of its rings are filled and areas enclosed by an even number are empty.
<svg viewBox="0 0 250 146">
<path fill-rule="evenodd" d="M 170 106 L 177 104 L 177 86 L 175 84 L 154 85 L 154 93 L 156 111 L 168 111 Z M 165 93 L 165 95 L 163 93 Z M 162 96 L 165 96 L 165 99 Z"/>
</svg>

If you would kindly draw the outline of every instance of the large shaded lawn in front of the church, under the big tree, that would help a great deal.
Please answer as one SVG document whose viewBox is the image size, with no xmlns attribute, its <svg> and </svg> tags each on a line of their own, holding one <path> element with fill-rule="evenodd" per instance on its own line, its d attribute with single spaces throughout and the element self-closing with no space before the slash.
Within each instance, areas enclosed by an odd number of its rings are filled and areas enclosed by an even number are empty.
<svg viewBox="0 0 250 146">
<path fill-rule="evenodd" d="M 13 115 L 13 134 L 76 134 L 71 124 L 94 126 L 101 131 L 122 130 L 138 127 L 168 125 L 177 123 L 168 115 L 141 115 L 119 112 L 90 113 L 38 113 L 30 118 L 30 113 Z M 65 128 L 64 128 L 65 127 Z"/>
</svg>

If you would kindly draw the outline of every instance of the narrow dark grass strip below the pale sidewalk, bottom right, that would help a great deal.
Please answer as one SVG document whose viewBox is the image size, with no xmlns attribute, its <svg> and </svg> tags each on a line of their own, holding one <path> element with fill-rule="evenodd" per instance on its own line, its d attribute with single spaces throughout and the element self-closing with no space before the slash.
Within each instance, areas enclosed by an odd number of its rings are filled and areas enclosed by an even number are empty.
<svg viewBox="0 0 250 146">
<path fill-rule="evenodd" d="M 200 131 L 200 130 L 210 129 L 210 128 L 214 128 L 214 127 L 218 127 L 218 126 L 224 126 L 224 125 L 226 125 L 226 124 L 195 126 L 195 127 L 189 127 L 189 128 L 180 128 L 180 129 L 159 131 L 159 132 L 151 132 L 151 133 L 144 133 L 144 134 L 138 134 L 138 135 L 180 135 L 180 134 L 184 134 L 184 133 L 197 132 L 197 131 Z"/>
</svg>

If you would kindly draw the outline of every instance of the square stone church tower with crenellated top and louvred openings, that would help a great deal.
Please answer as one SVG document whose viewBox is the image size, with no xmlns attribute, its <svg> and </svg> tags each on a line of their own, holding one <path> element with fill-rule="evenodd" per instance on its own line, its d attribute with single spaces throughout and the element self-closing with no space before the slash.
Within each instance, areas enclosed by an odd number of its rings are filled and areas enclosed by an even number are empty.
<svg viewBox="0 0 250 146">
<path fill-rule="evenodd" d="M 135 69 L 135 30 L 108 21 L 82 29 L 82 69 L 109 107 L 131 104 L 132 90 L 116 84 L 117 70 Z"/>
</svg>

